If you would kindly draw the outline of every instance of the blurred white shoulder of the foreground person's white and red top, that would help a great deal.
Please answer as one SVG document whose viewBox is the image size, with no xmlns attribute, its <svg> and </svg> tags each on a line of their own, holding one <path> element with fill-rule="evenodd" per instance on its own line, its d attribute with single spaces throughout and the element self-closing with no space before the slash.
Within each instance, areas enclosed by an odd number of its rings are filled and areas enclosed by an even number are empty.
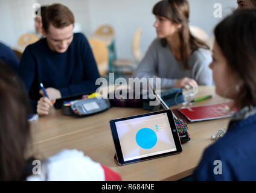
<svg viewBox="0 0 256 193">
<path fill-rule="evenodd" d="M 43 162 L 42 175 L 27 180 L 104 180 L 100 163 L 85 156 L 82 151 L 62 150 Z M 48 179 L 46 179 L 48 176 Z"/>
</svg>

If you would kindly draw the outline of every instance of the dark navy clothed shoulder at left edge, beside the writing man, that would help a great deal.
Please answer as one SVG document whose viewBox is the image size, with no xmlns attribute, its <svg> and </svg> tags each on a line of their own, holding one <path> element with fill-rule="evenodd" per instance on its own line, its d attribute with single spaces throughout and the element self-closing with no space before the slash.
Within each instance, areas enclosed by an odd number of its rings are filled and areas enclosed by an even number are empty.
<svg viewBox="0 0 256 193">
<path fill-rule="evenodd" d="M 0 59 L 5 63 L 10 65 L 14 71 L 18 71 L 19 59 L 14 51 L 11 50 L 8 46 L 0 42 Z"/>
</svg>

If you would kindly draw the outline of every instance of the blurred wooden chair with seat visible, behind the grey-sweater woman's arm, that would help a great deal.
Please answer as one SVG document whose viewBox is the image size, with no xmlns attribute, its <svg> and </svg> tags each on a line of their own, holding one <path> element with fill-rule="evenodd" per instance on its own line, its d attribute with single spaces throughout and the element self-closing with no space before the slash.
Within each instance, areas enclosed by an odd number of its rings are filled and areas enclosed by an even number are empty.
<svg viewBox="0 0 256 193">
<path fill-rule="evenodd" d="M 113 60 L 112 63 L 114 67 L 114 72 L 132 74 L 133 71 L 136 69 L 139 61 L 141 60 L 141 49 L 140 49 L 141 33 L 142 33 L 142 28 L 139 27 L 136 30 L 135 36 L 133 37 L 132 55 L 134 57 L 134 60 L 130 60 L 130 59 Z"/>
</svg>

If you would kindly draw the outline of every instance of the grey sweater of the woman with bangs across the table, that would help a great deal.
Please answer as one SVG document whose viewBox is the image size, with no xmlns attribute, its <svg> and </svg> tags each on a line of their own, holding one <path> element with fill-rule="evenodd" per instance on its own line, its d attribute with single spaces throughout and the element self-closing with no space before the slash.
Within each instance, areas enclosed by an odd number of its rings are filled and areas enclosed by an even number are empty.
<svg viewBox="0 0 256 193">
<path fill-rule="evenodd" d="M 174 87 L 175 81 L 181 78 L 193 78 L 199 85 L 213 84 L 211 69 L 208 65 L 212 62 L 211 52 L 199 48 L 194 51 L 189 59 L 189 70 L 183 68 L 182 62 L 176 60 L 171 49 L 161 45 L 161 39 L 156 38 L 146 55 L 141 60 L 133 77 L 161 78 L 161 88 Z"/>
</svg>

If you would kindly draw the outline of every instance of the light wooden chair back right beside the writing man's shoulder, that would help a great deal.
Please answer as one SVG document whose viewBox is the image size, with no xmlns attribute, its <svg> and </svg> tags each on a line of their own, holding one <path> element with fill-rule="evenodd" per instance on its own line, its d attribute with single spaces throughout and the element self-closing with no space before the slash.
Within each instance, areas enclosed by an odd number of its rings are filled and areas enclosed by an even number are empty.
<svg viewBox="0 0 256 193">
<path fill-rule="evenodd" d="M 91 45 L 100 75 L 106 75 L 109 66 L 109 52 L 106 44 L 98 39 L 90 39 L 89 44 Z"/>
</svg>

